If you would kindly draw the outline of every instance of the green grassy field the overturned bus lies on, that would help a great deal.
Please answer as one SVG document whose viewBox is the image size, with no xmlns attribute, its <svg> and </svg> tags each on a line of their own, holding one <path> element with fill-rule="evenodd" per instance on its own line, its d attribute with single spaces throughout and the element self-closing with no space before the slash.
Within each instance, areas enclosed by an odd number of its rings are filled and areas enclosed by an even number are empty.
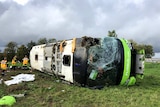
<svg viewBox="0 0 160 107">
<path fill-rule="evenodd" d="M 13 107 L 158 107 L 160 106 L 160 64 L 146 63 L 145 76 L 135 86 L 109 86 L 101 90 L 64 84 L 37 71 L 7 72 L 4 80 L 19 73 L 35 74 L 35 81 L 18 85 L 0 84 L 0 97 L 25 94 Z"/>
</svg>

